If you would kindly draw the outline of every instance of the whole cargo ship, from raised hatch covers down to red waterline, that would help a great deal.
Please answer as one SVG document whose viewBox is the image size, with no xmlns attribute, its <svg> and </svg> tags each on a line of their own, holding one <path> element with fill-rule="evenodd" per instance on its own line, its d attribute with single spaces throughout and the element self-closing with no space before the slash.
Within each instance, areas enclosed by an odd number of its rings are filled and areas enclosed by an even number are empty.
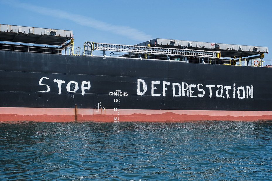
<svg viewBox="0 0 272 181">
<path fill-rule="evenodd" d="M 0 25 L 0 121 L 272 120 L 268 47 Z"/>
</svg>

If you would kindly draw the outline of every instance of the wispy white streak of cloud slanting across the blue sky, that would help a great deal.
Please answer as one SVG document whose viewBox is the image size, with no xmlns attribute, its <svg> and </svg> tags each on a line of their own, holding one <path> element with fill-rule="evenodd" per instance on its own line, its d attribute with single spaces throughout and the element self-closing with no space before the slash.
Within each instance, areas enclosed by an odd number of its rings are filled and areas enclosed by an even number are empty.
<svg viewBox="0 0 272 181">
<path fill-rule="evenodd" d="M 88 26 L 88 27 L 95 28 L 97 30 L 111 32 L 111 33 L 121 35 L 136 41 L 146 41 L 146 40 L 152 39 L 150 35 L 147 35 L 146 33 L 129 26 L 112 25 L 112 24 L 105 23 L 99 20 L 95 20 L 90 17 L 86 17 L 86 16 L 82 16 L 78 14 L 66 13 L 64 11 L 57 10 L 57 9 L 49 9 L 49 8 L 45 8 L 41 6 L 34 6 L 32 4 L 21 3 L 19 1 L 10 0 L 10 1 L 0 1 L 0 2 L 2 4 L 8 4 L 11 6 L 16 6 L 18 8 L 27 9 L 35 13 L 39 13 L 39 14 L 43 14 L 47 16 L 51 15 L 61 19 L 71 20 L 83 26 Z"/>
</svg>

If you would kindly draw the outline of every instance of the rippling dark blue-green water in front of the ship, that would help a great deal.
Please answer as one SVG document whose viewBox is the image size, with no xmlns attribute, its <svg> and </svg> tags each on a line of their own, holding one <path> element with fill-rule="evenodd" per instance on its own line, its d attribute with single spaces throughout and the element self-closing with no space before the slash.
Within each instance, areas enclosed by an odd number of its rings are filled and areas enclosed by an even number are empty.
<svg viewBox="0 0 272 181">
<path fill-rule="evenodd" d="M 272 180 L 272 122 L 0 123 L 0 180 Z"/>
</svg>

